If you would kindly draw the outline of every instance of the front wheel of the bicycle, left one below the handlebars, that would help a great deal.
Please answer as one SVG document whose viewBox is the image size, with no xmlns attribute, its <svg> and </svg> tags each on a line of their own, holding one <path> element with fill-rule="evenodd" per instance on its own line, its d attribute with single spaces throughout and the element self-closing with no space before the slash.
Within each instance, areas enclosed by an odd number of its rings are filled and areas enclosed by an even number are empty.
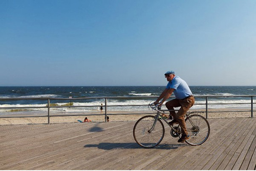
<svg viewBox="0 0 256 171">
<path fill-rule="evenodd" d="M 144 148 L 157 146 L 163 140 L 164 126 L 160 119 L 157 119 L 154 129 L 150 132 L 155 119 L 155 116 L 143 116 L 134 125 L 134 139 Z"/>
</svg>

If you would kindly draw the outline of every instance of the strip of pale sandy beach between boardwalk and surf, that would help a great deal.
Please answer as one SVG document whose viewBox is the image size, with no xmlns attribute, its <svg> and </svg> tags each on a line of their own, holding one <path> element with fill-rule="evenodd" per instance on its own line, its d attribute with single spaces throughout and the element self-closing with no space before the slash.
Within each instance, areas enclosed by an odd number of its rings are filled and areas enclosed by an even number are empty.
<svg viewBox="0 0 256 171">
<path fill-rule="evenodd" d="M 213 111 L 221 111 L 221 112 L 213 112 Z M 236 111 L 248 111 L 244 109 L 237 109 L 234 112 L 224 112 L 224 111 L 234 111 L 234 110 L 233 109 L 232 110 L 231 109 L 208 110 L 208 118 L 209 119 L 210 118 L 246 118 L 251 116 L 251 112 L 236 112 Z M 138 120 L 142 116 L 152 115 L 152 114 L 153 114 L 152 111 L 137 111 L 137 112 L 109 111 L 108 112 L 110 122 L 133 121 L 133 120 Z M 50 117 L 50 123 L 79 123 L 78 120 L 83 121 L 85 117 L 92 120 L 92 122 L 105 122 L 104 113 L 102 115 L 100 115 L 100 113 L 86 113 L 86 114 L 80 114 L 80 115 L 81 116 L 58 116 L 58 114 L 55 114 Z M 205 117 L 206 114 L 204 112 L 204 113 L 201 113 L 201 115 Z M 47 124 L 47 123 L 48 123 L 47 116 L 46 117 L 0 118 L 0 125 Z"/>
</svg>

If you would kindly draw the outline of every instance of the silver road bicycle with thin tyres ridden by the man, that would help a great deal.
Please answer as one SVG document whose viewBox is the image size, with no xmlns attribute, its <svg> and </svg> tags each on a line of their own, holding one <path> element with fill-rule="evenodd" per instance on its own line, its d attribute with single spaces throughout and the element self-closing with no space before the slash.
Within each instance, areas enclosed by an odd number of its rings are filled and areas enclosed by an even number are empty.
<svg viewBox="0 0 256 171">
<path fill-rule="evenodd" d="M 164 120 L 168 126 L 170 126 L 170 135 L 174 138 L 181 137 L 181 127 L 170 125 L 166 119 L 162 117 L 164 111 L 161 110 L 161 107 L 154 103 L 148 104 L 153 112 L 156 112 L 156 116 L 147 115 L 140 118 L 134 125 L 133 136 L 135 141 L 144 148 L 152 148 L 157 146 L 164 137 L 164 125 L 163 122 L 159 119 L 159 117 Z M 195 112 L 187 112 L 185 123 L 188 135 L 190 138 L 185 142 L 189 145 L 201 145 L 203 144 L 209 137 L 210 134 L 210 125 L 208 121 L 199 114 L 195 113 L 203 113 L 200 111 Z M 191 115 L 194 114 L 194 115 Z"/>
</svg>

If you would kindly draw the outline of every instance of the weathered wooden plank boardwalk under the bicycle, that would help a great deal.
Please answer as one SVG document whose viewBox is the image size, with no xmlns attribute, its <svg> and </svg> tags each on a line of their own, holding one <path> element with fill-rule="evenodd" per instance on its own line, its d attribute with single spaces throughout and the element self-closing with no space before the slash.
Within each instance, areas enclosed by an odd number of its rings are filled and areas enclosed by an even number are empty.
<svg viewBox="0 0 256 171">
<path fill-rule="evenodd" d="M 144 149 L 135 121 L 0 125 L 0 169 L 255 169 L 256 119 L 208 119 L 201 146 L 163 141 Z"/>
</svg>

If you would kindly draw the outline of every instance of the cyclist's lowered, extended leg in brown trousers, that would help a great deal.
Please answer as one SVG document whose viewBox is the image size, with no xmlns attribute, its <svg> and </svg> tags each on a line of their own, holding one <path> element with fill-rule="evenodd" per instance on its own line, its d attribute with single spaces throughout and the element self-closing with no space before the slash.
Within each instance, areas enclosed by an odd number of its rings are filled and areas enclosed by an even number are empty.
<svg viewBox="0 0 256 171">
<path fill-rule="evenodd" d="M 181 108 L 177 113 L 177 121 L 180 124 L 182 135 L 187 135 L 187 129 L 186 129 L 186 124 L 185 124 L 185 115 L 186 115 L 186 112 L 194 105 L 195 98 L 189 97 L 184 100 L 179 100 L 179 102 L 181 104 Z"/>
</svg>

